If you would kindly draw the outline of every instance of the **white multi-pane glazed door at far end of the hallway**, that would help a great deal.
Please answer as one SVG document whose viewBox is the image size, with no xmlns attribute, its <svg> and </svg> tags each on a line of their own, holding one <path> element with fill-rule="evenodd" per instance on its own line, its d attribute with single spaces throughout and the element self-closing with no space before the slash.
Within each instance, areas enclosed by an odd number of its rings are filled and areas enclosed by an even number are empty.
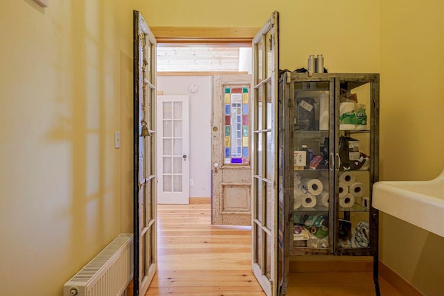
<svg viewBox="0 0 444 296">
<path fill-rule="evenodd" d="M 157 96 L 157 203 L 189 203 L 189 97 Z"/>
</svg>

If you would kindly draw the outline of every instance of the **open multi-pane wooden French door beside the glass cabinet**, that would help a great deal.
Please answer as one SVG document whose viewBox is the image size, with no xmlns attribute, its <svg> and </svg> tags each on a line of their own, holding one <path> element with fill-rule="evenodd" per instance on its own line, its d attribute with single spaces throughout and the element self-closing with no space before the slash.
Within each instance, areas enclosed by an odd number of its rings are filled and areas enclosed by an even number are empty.
<svg viewBox="0 0 444 296">
<path fill-rule="evenodd" d="M 268 296 L 278 295 L 278 12 L 253 39 L 252 267 Z"/>
</svg>

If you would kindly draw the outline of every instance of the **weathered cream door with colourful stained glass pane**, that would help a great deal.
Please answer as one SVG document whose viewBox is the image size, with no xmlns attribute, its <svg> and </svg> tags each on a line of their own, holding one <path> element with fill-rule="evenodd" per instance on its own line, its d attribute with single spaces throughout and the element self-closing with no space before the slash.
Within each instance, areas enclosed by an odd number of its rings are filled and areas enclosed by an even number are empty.
<svg viewBox="0 0 444 296">
<path fill-rule="evenodd" d="M 214 76 L 212 224 L 251 225 L 251 76 Z"/>
</svg>

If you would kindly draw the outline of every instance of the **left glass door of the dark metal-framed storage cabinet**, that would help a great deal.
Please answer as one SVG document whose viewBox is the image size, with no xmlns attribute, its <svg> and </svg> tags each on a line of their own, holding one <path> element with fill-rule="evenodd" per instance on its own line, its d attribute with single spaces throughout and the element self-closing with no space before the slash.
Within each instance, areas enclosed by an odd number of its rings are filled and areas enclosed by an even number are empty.
<svg viewBox="0 0 444 296">
<path fill-rule="evenodd" d="M 332 151 L 334 80 L 308 78 L 293 82 L 293 240 L 291 248 L 301 252 L 333 250 L 334 186 Z M 290 200 L 291 200 L 290 199 Z M 330 200 L 331 199 L 331 200 Z M 331 211 L 330 211 L 331 210 Z"/>
</svg>

